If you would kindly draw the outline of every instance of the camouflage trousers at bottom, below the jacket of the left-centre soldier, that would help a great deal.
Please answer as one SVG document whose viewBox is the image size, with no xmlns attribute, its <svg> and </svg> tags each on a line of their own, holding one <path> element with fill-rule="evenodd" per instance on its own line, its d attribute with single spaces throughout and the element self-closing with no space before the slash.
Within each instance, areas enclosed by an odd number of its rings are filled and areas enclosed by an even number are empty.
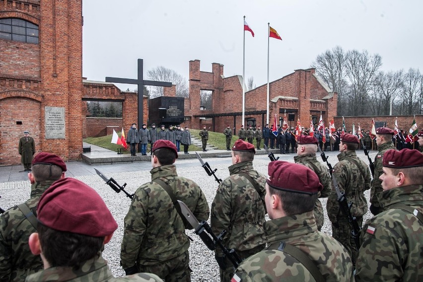
<svg viewBox="0 0 423 282">
<path fill-rule="evenodd" d="M 190 255 L 188 251 L 171 260 L 160 262 L 156 265 L 138 266 L 139 272 L 152 273 L 166 282 L 190 282 Z"/>
</svg>

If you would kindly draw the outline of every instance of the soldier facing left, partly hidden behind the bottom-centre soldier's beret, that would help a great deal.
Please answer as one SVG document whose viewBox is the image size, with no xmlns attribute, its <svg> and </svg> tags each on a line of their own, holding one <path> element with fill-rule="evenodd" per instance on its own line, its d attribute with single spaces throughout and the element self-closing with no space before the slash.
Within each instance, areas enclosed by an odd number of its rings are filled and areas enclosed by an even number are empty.
<svg viewBox="0 0 423 282">
<path fill-rule="evenodd" d="M 319 198 L 327 198 L 332 192 L 331 177 L 326 166 L 321 164 L 316 158 L 318 143 L 319 141 L 314 136 L 300 135 L 298 137 L 297 155 L 294 156 L 294 161 L 305 165 L 317 174 L 323 186 L 323 190 L 319 192 Z M 317 230 L 320 231 L 325 216 L 319 199 L 316 200 L 316 206 L 314 207 L 314 217 L 316 217 Z"/>
</svg>

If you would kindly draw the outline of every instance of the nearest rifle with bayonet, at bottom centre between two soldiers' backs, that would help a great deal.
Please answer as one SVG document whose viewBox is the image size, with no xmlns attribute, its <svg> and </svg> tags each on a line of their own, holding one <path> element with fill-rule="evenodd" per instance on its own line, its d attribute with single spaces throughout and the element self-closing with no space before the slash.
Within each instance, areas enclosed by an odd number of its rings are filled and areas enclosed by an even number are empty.
<svg viewBox="0 0 423 282">
<path fill-rule="evenodd" d="M 198 219 L 194 216 L 194 214 L 190 211 L 190 209 L 188 209 L 187 205 L 185 205 L 179 200 L 178 203 L 181 207 L 181 212 L 183 216 L 185 217 L 185 219 L 187 219 L 191 226 L 194 227 L 195 233 L 200 236 L 204 244 L 206 244 L 206 246 L 211 251 L 216 249 L 216 247 L 221 249 L 223 252 L 223 256 L 230 260 L 234 268 L 237 268 L 238 265 L 242 262 L 241 258 L 238 256 L 234 249 L 228 250 L 222 244 L 223 237 L 227 233 L 226 230 L 220 232 L 218 236 L 214 235 L 209 223 L 207 223 L 206 220 L 202 220 L 201 222 L 199 222 Z"/>
</svg>

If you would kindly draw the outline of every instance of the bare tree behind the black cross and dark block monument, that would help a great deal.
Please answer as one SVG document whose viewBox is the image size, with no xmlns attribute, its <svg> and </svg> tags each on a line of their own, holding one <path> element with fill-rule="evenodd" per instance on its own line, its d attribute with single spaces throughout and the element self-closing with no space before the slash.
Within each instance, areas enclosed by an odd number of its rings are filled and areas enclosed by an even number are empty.
<svg viewBox="0 0 423 282">
<path fill-rule="evenodd" d="M 172 82 L 176 85 L 176 97 L 189 97 L 187 79 L 174 70 L 159 66 L 147 71 L 150 80 Z M 150 98 L 163 96 L 163 86 L 150 86 Z"/>
</svg>

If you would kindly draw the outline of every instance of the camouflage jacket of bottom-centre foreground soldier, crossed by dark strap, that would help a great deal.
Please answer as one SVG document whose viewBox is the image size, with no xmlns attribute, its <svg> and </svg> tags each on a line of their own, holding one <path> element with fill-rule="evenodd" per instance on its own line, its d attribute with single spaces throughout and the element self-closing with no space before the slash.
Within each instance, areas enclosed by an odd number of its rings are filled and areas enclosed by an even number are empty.
<svg viewBox="0 0 423 282">
<path fill-rule="evenodd" d="M 268 244 L 286 242 L 303 251 L 315 263 L 325 281 L 353 281 L 347 250 L 331 236 L 317 231 L 312 211 L 264 223 Z M 242 282 L 314 282 L 308 270 L 290 255 L 265 249 L 244 260 L 235 275 Z"/>
</svg>

